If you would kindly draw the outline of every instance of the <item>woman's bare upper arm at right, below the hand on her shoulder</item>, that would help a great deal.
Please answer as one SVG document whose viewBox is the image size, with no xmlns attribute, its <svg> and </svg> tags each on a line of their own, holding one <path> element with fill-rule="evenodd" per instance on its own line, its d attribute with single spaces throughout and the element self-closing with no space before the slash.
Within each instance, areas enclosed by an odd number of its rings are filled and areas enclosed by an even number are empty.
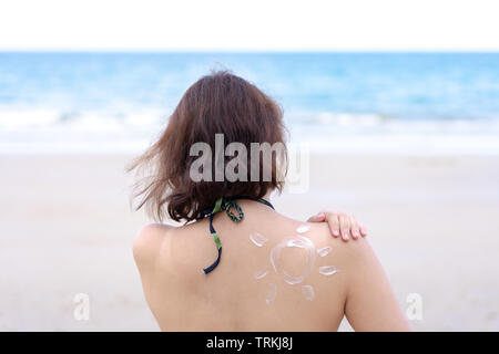
<svg viewBox="0 0 499 354">
<path fill-rule="evenodd" d="M 347 247 L 345 314 L 355 331 L 411 331 L 367 240 Z"/>
</svg>

